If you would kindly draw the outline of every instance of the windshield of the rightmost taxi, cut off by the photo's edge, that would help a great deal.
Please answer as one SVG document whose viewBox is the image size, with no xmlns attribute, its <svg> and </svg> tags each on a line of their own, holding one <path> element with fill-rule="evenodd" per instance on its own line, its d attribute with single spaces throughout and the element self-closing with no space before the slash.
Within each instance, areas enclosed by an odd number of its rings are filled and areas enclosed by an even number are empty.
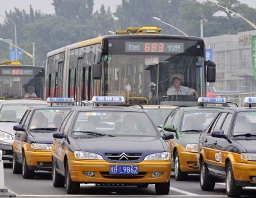
<svg viewBox="0 0 256 198">
<path fill-rule="evenodd" d="M 256 134 L 256 112 L 239 112 L 236 115 L 233 135 Z M 248 135 L 247 135 L 248 136 Z"/>
</svg>

